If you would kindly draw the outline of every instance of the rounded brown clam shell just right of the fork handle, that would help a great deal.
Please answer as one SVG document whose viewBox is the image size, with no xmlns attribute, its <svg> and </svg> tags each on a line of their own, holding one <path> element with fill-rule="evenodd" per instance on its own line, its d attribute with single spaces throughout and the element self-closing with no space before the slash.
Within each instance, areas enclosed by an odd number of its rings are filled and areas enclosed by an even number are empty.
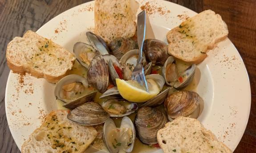
<svg viewBox="0 0 256 153">
<path fill-rule="evenodd" d="M 163 65 L 168 58 L 167 44 L 157 39 L 146 39 L 143 43 L 146 60 L 153 64 Z"/>
</svg>

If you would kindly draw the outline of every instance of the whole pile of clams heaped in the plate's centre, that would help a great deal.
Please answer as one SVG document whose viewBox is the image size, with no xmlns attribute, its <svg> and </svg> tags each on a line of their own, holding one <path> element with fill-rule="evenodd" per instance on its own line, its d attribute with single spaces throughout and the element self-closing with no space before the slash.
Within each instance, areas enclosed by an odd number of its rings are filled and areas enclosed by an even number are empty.
<svg viewBox="0 0 256 153">
<path fill-rule="evenodd" d="M 73 52 L 87 69 L 87 75 L 62 78 L 54 94 L 71 110 L 67 115 L 69 120 L 84 126 L 104 124 L 103 138 L 110 153 L 130 153 L 136 135 L 146 145 L 157 144 L 157 131 L 168 120 L 199 116 L 203 99 L 194 91 L 183 90 L 192 82 L 196 65 L 186 63 L 184 66 L 177 62 L 168 55 L 166 43 L 145 40 L 144 74 L 146 79 L 156 82 L 160 93 L 147 102 L 136 103 L 122 98 L 115 80 L 131 79 L 138 59 L 138 43 L 134 39 L 118 38 L 106 44 L 92 32 L 86 32 L 86 36 L 89 43 L 75 43 Z M 136 114 L 135 119 L 130 114 Z M 116 118 L 122 119 L 119 127 L 114 122 Z"/>
</svg>

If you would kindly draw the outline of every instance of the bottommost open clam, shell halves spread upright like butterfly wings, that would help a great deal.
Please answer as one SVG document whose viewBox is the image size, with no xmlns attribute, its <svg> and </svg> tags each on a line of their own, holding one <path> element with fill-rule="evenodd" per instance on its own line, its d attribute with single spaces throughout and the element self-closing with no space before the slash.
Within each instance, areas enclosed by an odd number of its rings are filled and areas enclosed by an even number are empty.
<svg viewBox="0 0 256 153">
<path fill-rule="evenodd" d="M 112 119 L 107 120 L 103 127 L 103 140 L 110 153 L 130 153 L 135 142 L 135 128 L 128 117 L 122 118 L 120 128 L 117 128 Z"/>
</svg>

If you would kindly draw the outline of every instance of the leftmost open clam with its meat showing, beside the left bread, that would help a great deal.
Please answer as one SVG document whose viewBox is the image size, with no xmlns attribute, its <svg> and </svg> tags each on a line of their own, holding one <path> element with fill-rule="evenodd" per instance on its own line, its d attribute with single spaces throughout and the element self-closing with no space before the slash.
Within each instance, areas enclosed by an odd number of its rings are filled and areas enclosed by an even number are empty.
<svg viewBox="0 0 256 153">
<path fill-rule="evenodd" d="M 89 87 L 86 78 L 80 75 L 67 75 L 57 82 L 54 95 L 66 103 L 64 107 L 73 109 L 92 100 L 96 92 L 94 88 Z"/>
</svg>

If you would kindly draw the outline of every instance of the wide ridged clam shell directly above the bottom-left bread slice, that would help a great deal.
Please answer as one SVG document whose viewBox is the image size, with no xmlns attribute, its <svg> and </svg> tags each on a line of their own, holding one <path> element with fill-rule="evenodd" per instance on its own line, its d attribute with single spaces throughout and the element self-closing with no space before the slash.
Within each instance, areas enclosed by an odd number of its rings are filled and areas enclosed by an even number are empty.
<svg viewBox="0 0 256 153">
<path fill-rule="evenodd" d="M 94 126 L 106 122 L 110 115 L 96 102 L 87 102 L 70 111 L 67 118 L 83 126 Z"/>
</svg>

